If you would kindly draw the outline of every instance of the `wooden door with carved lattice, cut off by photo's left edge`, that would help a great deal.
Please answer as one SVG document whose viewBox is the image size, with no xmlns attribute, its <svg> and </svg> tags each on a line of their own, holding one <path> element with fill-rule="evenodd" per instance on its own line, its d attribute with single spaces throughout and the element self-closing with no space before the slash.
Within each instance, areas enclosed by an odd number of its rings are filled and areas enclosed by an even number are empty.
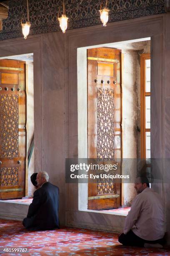
<svg viewBox="0 0 170 256">
<path fill-rule="evenodd" d="M 25 196 L 25 63 L 0 60 L 0 199 Z"/>
</svg>

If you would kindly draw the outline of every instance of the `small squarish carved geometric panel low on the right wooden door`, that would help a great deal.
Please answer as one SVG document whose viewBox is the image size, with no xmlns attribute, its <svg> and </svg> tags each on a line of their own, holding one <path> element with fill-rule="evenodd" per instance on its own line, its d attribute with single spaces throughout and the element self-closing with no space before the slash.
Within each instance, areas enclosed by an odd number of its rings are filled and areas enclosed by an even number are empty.
<svg viewBox="0 0 170 256">
<path fill-rule="evenodd" d="M 105 178 L 99 178 L 97 180 L 97 195 L 114 194 L 114 193 L 115 193 L 114 180 L 109 180 Z"/>
</svg>

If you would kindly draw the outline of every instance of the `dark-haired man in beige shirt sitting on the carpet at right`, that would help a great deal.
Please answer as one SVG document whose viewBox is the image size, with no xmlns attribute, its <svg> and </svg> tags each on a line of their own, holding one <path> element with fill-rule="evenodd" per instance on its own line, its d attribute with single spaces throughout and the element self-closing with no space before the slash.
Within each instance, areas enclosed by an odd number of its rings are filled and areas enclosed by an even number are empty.
<svg viewBox="0 0 170 256">
<path fill-rule="evenodd" d="M 162 247 L 165 243 L 163 202 L 150 189 L 148 178 L 138 177 L 135 182 L 138 195 L 125 219 L 119 242 L 125 246 Z"/>
</svg>

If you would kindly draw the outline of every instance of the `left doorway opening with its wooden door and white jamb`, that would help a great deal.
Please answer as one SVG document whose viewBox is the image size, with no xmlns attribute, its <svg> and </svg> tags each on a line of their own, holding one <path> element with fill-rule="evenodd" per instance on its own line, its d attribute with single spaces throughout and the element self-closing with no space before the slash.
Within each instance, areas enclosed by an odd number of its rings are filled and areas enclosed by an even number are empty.
<svg viewBox="0 0 170 256">
<path fill-rule="evenodd" d="M 30 197 L 34 192 L 30 182 L 34 173 L 33 54 L 2 57 L 0 63 L 1 100 L 6 101 L 5 111 L 0 104 L 0 199 Z M 6 155 L 2 152 L 3 132 L 7 133 Z"/>
</svg>

